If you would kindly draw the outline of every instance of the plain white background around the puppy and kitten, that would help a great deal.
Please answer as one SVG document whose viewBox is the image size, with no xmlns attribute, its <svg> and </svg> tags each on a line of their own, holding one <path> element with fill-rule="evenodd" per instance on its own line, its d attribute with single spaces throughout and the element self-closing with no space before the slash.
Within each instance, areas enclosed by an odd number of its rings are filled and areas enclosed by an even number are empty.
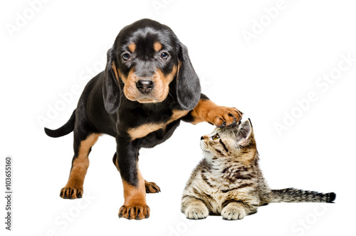
<svg viewBox="0 0 356 236">
<path fill-rule="evenodd" d="M 277 0 L 53 0 L 37 4 L 36 11 L 28 3 L 32 1 L 1 1 L 0 6 L 1 189 L 4 159 L 14 158 L 13 230 L 4 229 L 1 197 L 1 234 L 355 232 L 356 62 L 347 69 L 341 62 L 341 55 L 356 58 L 352 1 L 286 0 L 283 9 L 274 12 L 275 19 L 264 9 L 276 7 Z M 25 16 L 26 21 L 19 19 Z M 105 53 L 120 29 L 142 18 L 173 29 L 189 48 L 203 92 L 212 101 L 236 106 L 251 118 L 261 168 L 271 188 L 334 191 L 335 204 L 275 203 L 234 222 L 217 216 L 184 220 L 179 212 L 182 190 L 201 159 L 200 136 L 213 129 L 209 124 L 189 123 L 182 123 L 162 145 L 141 150 L 142 175 L 162 189 L 147 196 L 148 220 L 117 217 L 123 203 L 122 183 L 112 165 L 115 140 L 109 136 L 101 137 L 90 154 L 83 199 L 61 199 L 73 157 L 73 136 L 49 138 L 43 125 L 58 128 L 66 123 L 79 98 L 75 94 L 70 99 L 72 86 L 83 90 L 90 74 L 105 66 Z M 264 26 L 258 28 L 260 20 Z M 18 28 L 11 33 L 10 25 Z M 253 30 L 255 38 L 248 44 L 243 32 L 253 34 Z M 337 79 L 320 86 L 320 78 L 330 73 Z M 303 103 L 301 110 L 296 101 L 305 101 L 310 92 L 318 99 L 308 106 Z M 67 94 L 67 101 L 60 94 Z M 55 106 L 61 111 L 51 113 Z M 286 118 L 292 113 L 293 122 Z M 41 118 L 48 120 L 41 123 Z M 276 123 L 286 125 L 285 130 L 278 134 Z"/>
</svg>

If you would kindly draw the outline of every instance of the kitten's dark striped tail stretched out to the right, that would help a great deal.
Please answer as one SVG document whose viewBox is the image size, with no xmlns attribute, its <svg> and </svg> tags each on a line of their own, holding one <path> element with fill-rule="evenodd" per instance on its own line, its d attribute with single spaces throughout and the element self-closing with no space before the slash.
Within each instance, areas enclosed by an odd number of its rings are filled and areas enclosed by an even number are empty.
<svg viewBox="0 0 356 236">
<path fill-rule="evenodd" d="M 284 188 L 271 190 L 269 202 L 333 202 L 335 197 L 335 193 L 318 193 L 295 188 Z"/>
</svg>

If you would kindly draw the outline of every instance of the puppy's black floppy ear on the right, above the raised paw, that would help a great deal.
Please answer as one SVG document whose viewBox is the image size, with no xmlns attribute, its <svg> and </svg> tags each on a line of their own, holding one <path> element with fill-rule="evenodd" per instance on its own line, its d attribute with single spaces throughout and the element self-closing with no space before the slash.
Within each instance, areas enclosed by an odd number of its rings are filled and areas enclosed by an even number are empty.
<svg viewBox="0 0 356 236">
<path fill-rule="evenodd" d="M 179 105 L 184 110 L 192 110 L 197 106 L 200 99 L 200 82 L 195 73 L 188 49 L 183 43 L 178 48 L 179 70 L 177 75 L 177 98 Z"/>
</svg>

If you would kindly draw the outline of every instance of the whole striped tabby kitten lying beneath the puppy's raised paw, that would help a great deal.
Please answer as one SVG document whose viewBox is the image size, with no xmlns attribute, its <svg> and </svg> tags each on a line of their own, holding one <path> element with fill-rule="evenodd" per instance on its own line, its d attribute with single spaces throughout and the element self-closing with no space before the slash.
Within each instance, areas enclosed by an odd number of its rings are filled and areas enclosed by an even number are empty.
<svg viewBox="0 0 356 236">
<path fill-rule="evenodd" d="M 216 128 L 201 137 L 204 158 L 193 170 L 182 196 L 189 219 L 222 215 L 242 219 L 269 202 L 333 202 L 335 193 L 286 188 L 271 190 L 258 168 L 251 120 L 233 128 Z"/>
</svg>

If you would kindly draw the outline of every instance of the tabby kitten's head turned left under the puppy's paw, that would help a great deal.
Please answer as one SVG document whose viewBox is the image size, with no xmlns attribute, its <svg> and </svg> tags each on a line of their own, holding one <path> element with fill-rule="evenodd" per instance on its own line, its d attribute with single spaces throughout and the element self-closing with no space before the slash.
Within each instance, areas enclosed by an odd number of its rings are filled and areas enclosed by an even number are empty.
<svg viewBox="0 0 356 236">
<path fill-rule="evenodd" d="M 212 133 L 201 137 L 200 147 L 204 153 L 222 158 L 256 153 L 251 120 L 248 118 L 233 127 L 215 128 Z"/>
</svg>

